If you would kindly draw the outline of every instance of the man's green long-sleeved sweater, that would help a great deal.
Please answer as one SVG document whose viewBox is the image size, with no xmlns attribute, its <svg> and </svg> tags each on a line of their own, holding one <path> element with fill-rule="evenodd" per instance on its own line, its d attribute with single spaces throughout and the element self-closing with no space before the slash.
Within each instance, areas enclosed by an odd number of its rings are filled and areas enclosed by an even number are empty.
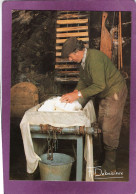
<svg viewBox="0 0 136 194">
<path fill-rule="evenodd" d="M 118 93 L 125 80 L 111 60 L 101 51 L 87 49 L 84 69 L 80 67 L 80 79 L 76 89 L 84 98 L 98 95 L 100 98 Z"/>
</svg>

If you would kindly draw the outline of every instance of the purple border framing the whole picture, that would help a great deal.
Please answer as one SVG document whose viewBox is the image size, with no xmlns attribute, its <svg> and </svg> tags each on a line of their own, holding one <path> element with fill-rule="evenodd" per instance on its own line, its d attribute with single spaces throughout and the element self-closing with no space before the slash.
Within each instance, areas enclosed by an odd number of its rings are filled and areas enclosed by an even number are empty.
<svg viewBox="0 0 136 194">
<path fill-rule="evenodd" d="M 130 146 L 128 182 L 10 180 L 12 10 L 131 11 Z M 136 193 L 136 3 L 133 0 L 5 1 L 2 5 L 2 143 L 5 194 Z"/>
</svg>

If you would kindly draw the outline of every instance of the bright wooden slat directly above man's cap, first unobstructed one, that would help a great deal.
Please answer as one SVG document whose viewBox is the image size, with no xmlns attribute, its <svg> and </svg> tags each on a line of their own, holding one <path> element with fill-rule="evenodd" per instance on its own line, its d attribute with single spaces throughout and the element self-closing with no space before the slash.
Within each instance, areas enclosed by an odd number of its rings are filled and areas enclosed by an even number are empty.
<svg viewBox="0 0 136 194">
<path fill-rule="evenodd" d="M 65 37 L 75 37 L 75 36 L 88 36 L 88 32 L 75 32 L 75 33 L 57 33 L 56 37 L 65 38 Z"/>
</svg>

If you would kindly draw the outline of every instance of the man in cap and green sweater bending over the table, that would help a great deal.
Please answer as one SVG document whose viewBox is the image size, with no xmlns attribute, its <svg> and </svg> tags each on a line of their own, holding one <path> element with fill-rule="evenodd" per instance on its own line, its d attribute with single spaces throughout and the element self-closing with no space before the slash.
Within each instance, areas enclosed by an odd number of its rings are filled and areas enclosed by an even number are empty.
<svg viewBox="0 0 136 194">
<path fill-rule="evenodd" d="M 116 150 L 127 97 L 126 82 L 111 60 L 101 51 L 86 49 L 82 41 L 69 38 L 62 47 L 62 57 L 81 62 L 80 79 L 76 89 L 61 97 L 61 102 L 92 96 L 100 98 L 99 127 L 103 132 L 105 160 L 102 170 L 116 171 Z"/>
</svg>

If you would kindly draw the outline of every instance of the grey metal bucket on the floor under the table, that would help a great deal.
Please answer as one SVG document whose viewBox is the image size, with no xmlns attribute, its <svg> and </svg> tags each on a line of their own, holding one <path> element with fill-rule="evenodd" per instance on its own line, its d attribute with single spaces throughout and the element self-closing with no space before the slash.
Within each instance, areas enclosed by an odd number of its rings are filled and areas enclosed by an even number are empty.
<svg viewBox="0 0 136 194">
<path fill-rule="evenodd" d="M 74 158 L 62 153 L 54 153 L 53 160 L 47 160 L 47 154 L 39 161 L 41 180 L 69 181 Z"/>
</svg>

